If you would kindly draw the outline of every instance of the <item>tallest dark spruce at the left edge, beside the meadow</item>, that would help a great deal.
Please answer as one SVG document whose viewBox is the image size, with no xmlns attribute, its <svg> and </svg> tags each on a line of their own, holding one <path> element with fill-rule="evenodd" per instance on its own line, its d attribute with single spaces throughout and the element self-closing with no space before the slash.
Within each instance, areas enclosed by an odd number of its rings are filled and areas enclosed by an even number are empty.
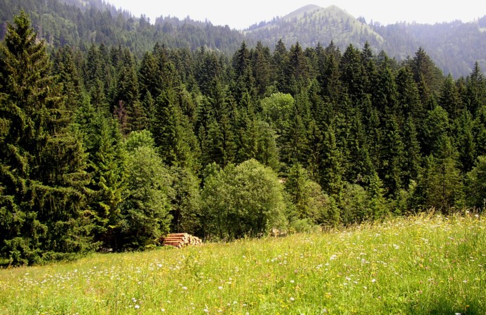
<svg viewBox="0 0 486 315">
<path fill-rule="evenodd" d="M 26 13 L 13 22 L 0 48 L 0 255 L 12 265 L 73 258 L 93 248 L 86 155 L 69 133 L 45 43 Z"/>
</svg>

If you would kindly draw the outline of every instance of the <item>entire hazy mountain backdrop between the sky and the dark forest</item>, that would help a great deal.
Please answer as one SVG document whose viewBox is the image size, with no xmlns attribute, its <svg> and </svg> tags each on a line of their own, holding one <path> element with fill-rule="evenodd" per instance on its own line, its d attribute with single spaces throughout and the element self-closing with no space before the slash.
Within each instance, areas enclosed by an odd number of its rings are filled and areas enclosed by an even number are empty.
<svg viewBox="0 0 486 315">
<path fill-rule="evenodd" d="M 282 39 L 287 46 L 299 42 L 304 49 L 333 41 L 341 50 L 349 43 L 362 48 L 368 42 L 375 53 L 384 50 L 398 62 L 422 47 L 445 74 L 452 73 L 454 78 L 471 73 L 475 62 L 486 69 L 486 16 L 465 23 L 382 26 L 378 22 L 368 25 L 364 18 L 356 19 L 337 6 L 310 5 L 237 31 L 189 18 L 160 17 L 152 25 L 144 15 L 134 17 L 102 0 L 5 0 L 0 8 L 0 38 L 5 34 L 6 22 L 23 8 L 48 47 L 75 45 L 86 50 L 88 43 L 123 45 L 142 57 L 156 42 L 191 51 L 205 46 L 226 55 L 232 55 L 242 41 L 251 46 L 261 41 L 274 48 Z"/>
</svg>

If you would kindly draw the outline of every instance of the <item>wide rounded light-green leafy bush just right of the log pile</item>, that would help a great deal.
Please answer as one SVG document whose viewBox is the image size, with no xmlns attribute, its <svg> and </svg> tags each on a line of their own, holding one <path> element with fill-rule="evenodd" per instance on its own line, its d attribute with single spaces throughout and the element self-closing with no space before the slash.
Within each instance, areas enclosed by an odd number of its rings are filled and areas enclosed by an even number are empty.
<svg viewBox="0 0 486 315">
<path fill-rule="evenodd" d="M 283 186 L 274 171 L 256 160 L 211 169 L 202 191 L 206 237 L 238 239 L 285 226 Z"/>
</svg>

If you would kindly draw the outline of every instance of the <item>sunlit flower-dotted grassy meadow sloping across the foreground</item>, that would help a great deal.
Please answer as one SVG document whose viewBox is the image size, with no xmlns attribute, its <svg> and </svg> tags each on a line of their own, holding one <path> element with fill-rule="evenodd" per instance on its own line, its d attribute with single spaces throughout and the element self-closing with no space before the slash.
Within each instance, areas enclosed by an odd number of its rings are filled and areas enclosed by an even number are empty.
<svg viewBox="0 0 486 315">
<path fill-rule="evenodd" d="M 0 270 L 0 314 L 486 314 L 486 221 L 95 254 Z"/>
</svg>

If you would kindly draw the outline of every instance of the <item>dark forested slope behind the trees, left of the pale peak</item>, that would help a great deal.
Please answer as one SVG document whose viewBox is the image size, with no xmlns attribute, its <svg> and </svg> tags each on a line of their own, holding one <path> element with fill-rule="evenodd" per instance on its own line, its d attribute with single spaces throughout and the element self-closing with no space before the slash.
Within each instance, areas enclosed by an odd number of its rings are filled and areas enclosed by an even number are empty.
<svg viewBox="0 0 486 315">
<path fill-rule="evenodd" d="M 0 39 L 6 34 L 7 22 L 20 10 L 29 13 L 37 36 L 46 41 L 50 52 L 65 45 L 86 52 L 92 43 L 104 43 L 122 45 L 142 57 L 158 42 L 193 51 L 204 45 L 231 55 L 244 38 L 227 26 L 189 18 L 158 18 L 153 25 L 145 15 L 135 17 L 100 0 L 4 0 L 0 3 Z"/>
</svg>

